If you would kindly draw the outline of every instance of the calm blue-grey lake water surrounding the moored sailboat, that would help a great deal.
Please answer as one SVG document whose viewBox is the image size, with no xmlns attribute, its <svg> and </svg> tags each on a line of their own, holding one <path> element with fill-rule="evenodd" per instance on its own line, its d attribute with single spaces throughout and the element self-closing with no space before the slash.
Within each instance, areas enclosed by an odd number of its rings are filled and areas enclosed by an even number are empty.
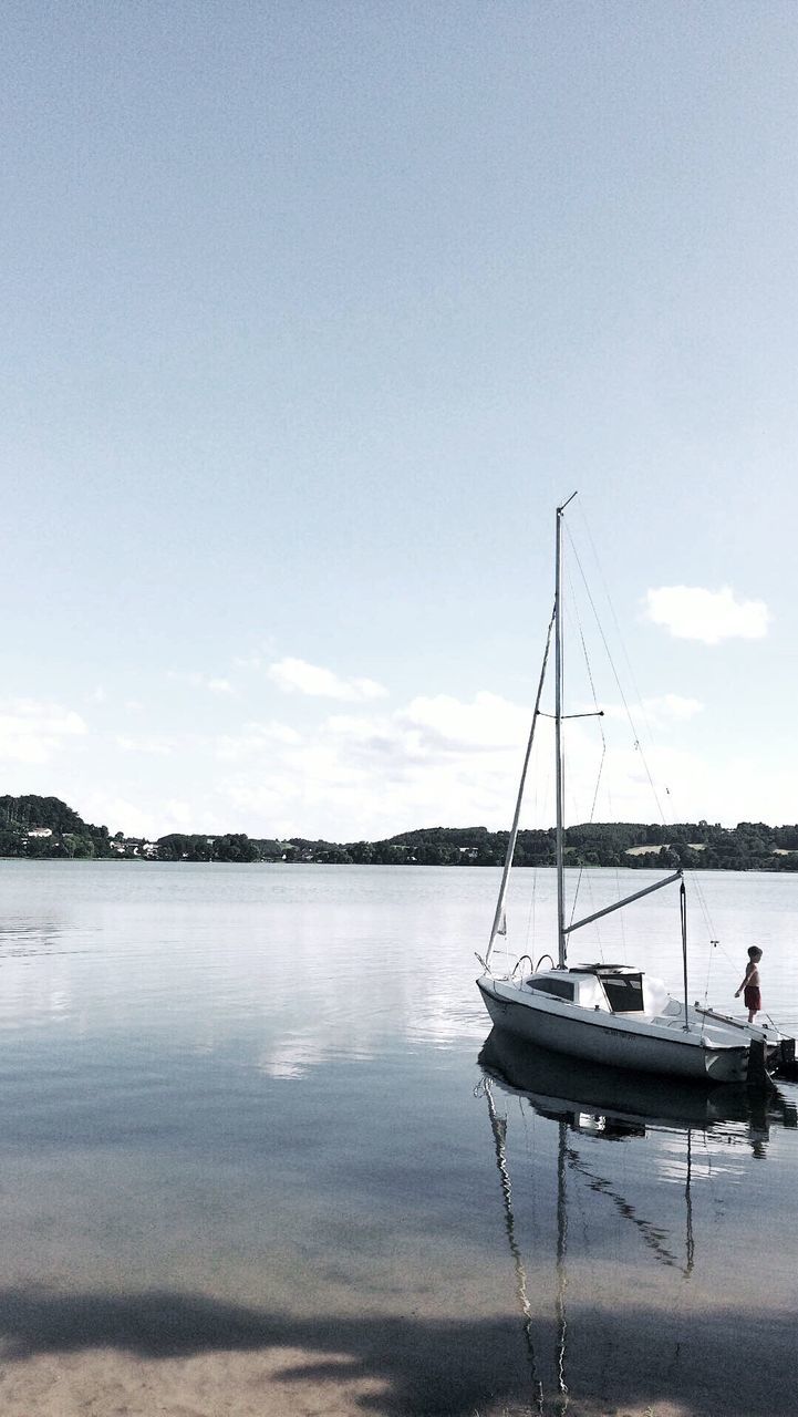
<svg viewBox="0 0 798 1417">
<path fill-rule="evenodd" d="M 537 958 L 554 874 L 516 877 Z M 6 1366 L 289 1349 L 292 1411 L 347 1411 L 344 1373 L 353 1411 L 798 1411 L 798 1088 L 488 1040 L 498 879 L 1 862 Z M 585 873 L 580 910 L 652 879 Z M 675 894 L 600 925 L 574 959 L 679 990 Z M 798 876 L 695 877 L 690 937 L 690 998 L 738 1010 L 755 942 L 798 1033 Z"/>
</svg>

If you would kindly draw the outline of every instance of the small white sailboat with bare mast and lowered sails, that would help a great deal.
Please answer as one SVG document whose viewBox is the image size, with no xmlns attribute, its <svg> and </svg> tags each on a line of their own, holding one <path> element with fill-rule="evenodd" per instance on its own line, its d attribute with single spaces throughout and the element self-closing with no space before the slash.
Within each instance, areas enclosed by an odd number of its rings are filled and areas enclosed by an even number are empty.
<svg viewBox="0 0 798 1417">
<path fill-rule="evenodd" d="M 554 608 L 549 621 L 499 898 L 486 955 L 485 958 L 478 955 L 483 973 L 476 985 L 498 1027 L 557 1053 L 609 1067 L 712 1083 L 746 1081 L 753 1076 L 755 1064 L 761 1078 L 765 1080 L 767 1061 L 778 1056 L 782 1044 L 778 1030 L 772 1024 L 743 1023 L 697 1003 L 689 1003 L 686 894 L 680 870 L 581 920 L 566 922 L 563 723 L 567 717 L 585 717 L 563 713 L 563 517 L 574 496 L 575 493 L 557 507 Z M 533 968 L 529 955 L 522 955 L 509 972 L 496 973 L 492 958 L 498 937 L 506 934 L 505 904 L 534 731 L 541 717 L 540 703 L 551 638 L 554 639 L 557 962 L 554 964 L 547 954 L 541 956 L 537 968 Z M 652 891 L 676 884 L 682 925 L 682 998 L 670 995 L 661 979 L 652 978 L 641 968 L 619 964 L 567 964 L 570 938 L 584 925 L 642 900 Z M 546 959 L 551 961 L 551 968 L 541 969 L 540 965 Z M 529 968 L 524 968 L 524 962 Z"/>
</svg>

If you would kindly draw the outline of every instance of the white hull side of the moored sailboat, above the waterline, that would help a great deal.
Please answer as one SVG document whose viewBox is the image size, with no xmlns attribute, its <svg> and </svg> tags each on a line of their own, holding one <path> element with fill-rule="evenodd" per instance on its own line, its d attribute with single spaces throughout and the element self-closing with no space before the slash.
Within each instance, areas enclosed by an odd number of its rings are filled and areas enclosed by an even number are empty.
<svg viewBox="0 0 798 1417">
<path fill-rule="evenodd" d="M 644 1023 L 556 1003 L 516 1000 L 490 978 L 478 979 L 490 1019 L 499 1029 L 540 1047 L 607 1067 L 632 1068 L 713 1083 L 744 1083 L 750 1039 L 712 1043 L 704 1030 L 661 1029 Z M 515 990 L 512 990 L 515 992 Z"/>
</svg>

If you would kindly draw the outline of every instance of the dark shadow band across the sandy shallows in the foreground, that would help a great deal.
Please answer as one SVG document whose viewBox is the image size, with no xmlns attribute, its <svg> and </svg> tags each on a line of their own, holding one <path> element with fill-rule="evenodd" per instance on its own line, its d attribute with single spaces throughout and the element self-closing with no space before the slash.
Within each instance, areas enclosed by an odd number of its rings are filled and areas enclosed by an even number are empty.
<svg viewBox="0 0 798 1417">
<path fill-rule="evenodd" d="M 82 1349 L 119 1349 L 143 1359 L 217 1352 L 306 1349 L 308 1366 L 283 1370 L 313 1377 L 366 1377 L 384 1386 L 366 1410 L 401 1417 L 473 1417 L 533 1411 L 592 1417 L 670 1401 L 690 1417 L 772 1417 L 794 1410 L 794 1316 L 787 1312 L 662 1314 L 600 1306 L 571 1311 L 573 1357 L 567 1397 L 533 1397 L 517 1316 L 496 1321 L 414 1318 L 296 1319 L 201 1295 L 143 1292 L 106 1297 L 0 1291 L 4 1360 Z M 744 1342 L 741 1336 L 744 1335 Z M 551 1321 L 536 1319 L 539 1349 L 556 1342 Z M 330 1362 L 319 1363 L 329 1352 Z M 768 1355 L 763 1382 L 751 1352 Z M 340 1356 L 349 1362 L 342 1365 Z"/>
</svg>

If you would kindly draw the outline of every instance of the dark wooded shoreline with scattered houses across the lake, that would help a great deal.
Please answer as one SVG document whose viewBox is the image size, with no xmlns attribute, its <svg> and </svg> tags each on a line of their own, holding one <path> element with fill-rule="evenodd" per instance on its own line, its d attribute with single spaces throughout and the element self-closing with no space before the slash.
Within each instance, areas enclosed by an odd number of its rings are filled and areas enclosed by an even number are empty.
<svg viewBox="0 0 798 1417">
<path fill-rule="evenodd" d="M 111 836 L 84 822 L 60 798 L 0 796 L 0 856 L 150 859 L 160 862 L 312 862 L 342 866 L 502 866 L 507 832 L 485 826 L 435 826 L 400 832 L 380 842 L 326 842 L 292 836 L 249 837 L 170 832 L 154 842 Z M 554 828 L 519 832 L 517 866 L 554 864 Z M 629 854 L 631 853 L 631 854 Z M 566 829 L 568 866 L 676 867 L 700 870 L 798 870 L 798 823 L 591 822 Z"/>
</svg>

